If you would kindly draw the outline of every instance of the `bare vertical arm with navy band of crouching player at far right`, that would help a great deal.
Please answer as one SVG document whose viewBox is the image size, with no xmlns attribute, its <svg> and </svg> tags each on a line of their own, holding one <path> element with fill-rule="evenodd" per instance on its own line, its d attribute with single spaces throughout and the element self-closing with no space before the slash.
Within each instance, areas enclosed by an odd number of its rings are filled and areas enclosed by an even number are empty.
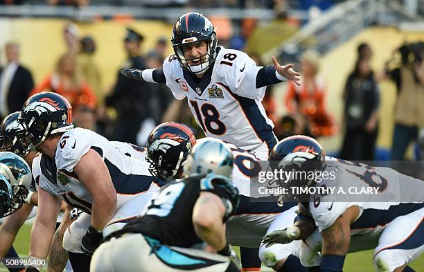
<svg viewBox="0 0 424 272">
<path fill-rule="evenodd" d="M 342 271 L 344 257 L 351 243 L 351 224 L 359 215 L 359 208 L 351 206 L 329 228 L 321 231 L 321 271 Z"/>
</svg>

